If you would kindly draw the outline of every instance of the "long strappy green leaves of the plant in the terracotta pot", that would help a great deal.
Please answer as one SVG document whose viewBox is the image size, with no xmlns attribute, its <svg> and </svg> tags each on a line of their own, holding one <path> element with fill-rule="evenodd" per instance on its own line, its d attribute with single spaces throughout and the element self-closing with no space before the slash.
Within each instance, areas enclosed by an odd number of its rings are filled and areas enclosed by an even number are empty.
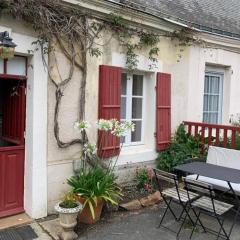
<svg viewBox="0 0 240 240">
<path fill-rule="evenodd" d="M 112 172 L 101 167 L 82 169 L 79 176 L 73 176 L 67 180 L 74 194 L 85 199 L 83 208 L 87 205 L 95 219 L 94 208 L 98 198 L 113 205 L 117 205 L 122 197 L 121 188 L 115 183 L 116 177 Z"/>
</svg>

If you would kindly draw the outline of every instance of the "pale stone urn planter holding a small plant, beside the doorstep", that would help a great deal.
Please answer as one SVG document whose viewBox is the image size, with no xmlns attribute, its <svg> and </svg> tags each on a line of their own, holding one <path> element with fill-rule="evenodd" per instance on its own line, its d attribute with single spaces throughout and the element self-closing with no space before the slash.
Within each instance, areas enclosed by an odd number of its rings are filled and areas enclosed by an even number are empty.
<svg viewBox="0 0 240 240">
<path fill-rule="evenodd" d="M 78 235 L 73 231 L 77 225 L 77 216 L 82 209 L 82 204 L 76 201 L 73 192 L 67 193 L 63 201 L 55 206 L 55 210 L 59 213 L 60 225 L 63 231 L 60 235 L 62 240 L 77 239 Z"/>
</svg>

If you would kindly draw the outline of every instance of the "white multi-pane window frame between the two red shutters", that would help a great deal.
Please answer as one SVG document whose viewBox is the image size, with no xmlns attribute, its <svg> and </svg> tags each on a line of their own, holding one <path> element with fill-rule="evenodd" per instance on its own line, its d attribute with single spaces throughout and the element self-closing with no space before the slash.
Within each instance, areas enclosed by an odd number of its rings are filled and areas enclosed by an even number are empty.
<svg viewBox="0 0 240 240">
<path fill-rule="evenodd" d="M 132 142 L 131 141 L 131 132 L 125 136 L 125 142 L 123 144 L 124 147 L 127 146 L 136 146 L 136 145 L 142 145 L 144 144 L 144 126 L 145 126 L 145 102 L 146 102 L 146 76 L 143 73 L 134 72 L 134 73 L 128 73 L 123 72 L 127 74 L 127 92 L 126 95 L 121 94 L 122 97 L 126 97 L 126 119 L 121 119 L 121 121 L 142 121 L 142 127 L 141 127 L 141 141 Z M 143 76 L 143 95 L 142 96 L 135 96 L 132 94 L 132 87 L 133 87 L 133 75 L 142 75 Z M 142 118 L 141 119 L 133 119 L 132 118 L 132 100 L 133 98 L 142 98 Z"/>
</svg>

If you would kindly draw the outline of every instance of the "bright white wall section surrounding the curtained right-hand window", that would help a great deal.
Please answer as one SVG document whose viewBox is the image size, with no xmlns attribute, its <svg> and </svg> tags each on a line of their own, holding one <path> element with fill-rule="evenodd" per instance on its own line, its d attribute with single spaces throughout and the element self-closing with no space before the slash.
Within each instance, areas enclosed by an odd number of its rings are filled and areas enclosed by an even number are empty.
<svg viewBox="0 0 240 240">
<path fill-rule="evenodd" d="M 188 107 L 189 121 L 202 121 L 204 74 L 206 67 L 224 72 L 222 124 L 229 124 L 231 114 L 240 111 L 240 54 L 222 49 L 192 47 L 188 70 Z"/>
</svg>

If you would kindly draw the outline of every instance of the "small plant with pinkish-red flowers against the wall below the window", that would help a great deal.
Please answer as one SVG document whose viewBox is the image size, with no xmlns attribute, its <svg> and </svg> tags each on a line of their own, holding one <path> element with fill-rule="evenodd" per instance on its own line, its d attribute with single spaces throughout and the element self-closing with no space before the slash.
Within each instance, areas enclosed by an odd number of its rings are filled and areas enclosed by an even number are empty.
<svg viewBox="0 0 240 240">
<path fill-rule="evenodd" d="M 137 168 L 136 181 L 139 190 L 151 192 L 154 188 L 152 169 L 147 167 Z"/>
</svg>

